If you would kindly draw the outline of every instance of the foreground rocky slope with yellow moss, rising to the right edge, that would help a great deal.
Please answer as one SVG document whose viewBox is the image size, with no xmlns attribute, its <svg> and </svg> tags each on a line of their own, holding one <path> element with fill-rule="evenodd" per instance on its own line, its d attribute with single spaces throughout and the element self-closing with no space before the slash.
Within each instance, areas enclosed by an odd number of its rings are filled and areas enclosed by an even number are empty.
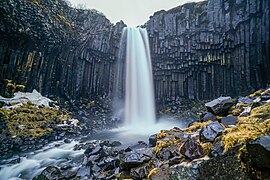
<svg viewBox="0 0 270 180">
<path fill-rule="evenodd" d="M 122 148 L 92 141 L 80 165 L 49 166 L 35 179 L 267 179 L 270 169 L 270 88 L 205 104 L 201 120 Z"/>
</svg>

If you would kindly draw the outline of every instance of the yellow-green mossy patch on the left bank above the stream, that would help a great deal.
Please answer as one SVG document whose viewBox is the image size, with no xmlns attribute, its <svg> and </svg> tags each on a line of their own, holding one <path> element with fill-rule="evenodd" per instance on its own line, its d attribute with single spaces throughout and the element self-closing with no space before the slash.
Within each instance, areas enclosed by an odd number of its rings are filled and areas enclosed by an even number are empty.
<svg viewBox="0 0 270 180">
<path fill-rule="evenodd" d="M 0 108 L 0 113 L 12 136 L 33 138 L 53 131 L 51 125 L 56 124 L 56 119 L 60 122 L 69 119 L 69 114 L 59 112 L 56 108 L 37 108 L 31 103 L 12 110 Z"/>
</svg>

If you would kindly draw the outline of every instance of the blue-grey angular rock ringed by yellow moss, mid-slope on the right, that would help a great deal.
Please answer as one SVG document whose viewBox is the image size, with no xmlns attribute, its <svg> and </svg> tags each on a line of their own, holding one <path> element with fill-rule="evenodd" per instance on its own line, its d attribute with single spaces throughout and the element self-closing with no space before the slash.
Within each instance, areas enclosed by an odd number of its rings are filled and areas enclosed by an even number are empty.
<svg viewBox="0 0 270 180">
<path fill-rule="evenodd" d="M 213 142 L 217 136 L 219 136 L 224 128 L 219 122 L 214 121 L 206 125 L 200 131 L 200 141 L 202 142 Z"/>
</svg>

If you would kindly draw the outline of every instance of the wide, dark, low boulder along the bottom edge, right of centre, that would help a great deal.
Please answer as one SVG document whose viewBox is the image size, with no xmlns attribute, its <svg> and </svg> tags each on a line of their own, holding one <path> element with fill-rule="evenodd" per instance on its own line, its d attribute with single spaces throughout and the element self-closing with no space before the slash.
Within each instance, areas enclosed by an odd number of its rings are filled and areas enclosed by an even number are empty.
<svg viewBox="0 0 270 180">
<path fill-rule="evenodd" d="M 243 171 L 241 161 L 235 153 L 182 162 L 171 169 L 172 173 L 168 179 L 250 179 Z"/>
</svg>

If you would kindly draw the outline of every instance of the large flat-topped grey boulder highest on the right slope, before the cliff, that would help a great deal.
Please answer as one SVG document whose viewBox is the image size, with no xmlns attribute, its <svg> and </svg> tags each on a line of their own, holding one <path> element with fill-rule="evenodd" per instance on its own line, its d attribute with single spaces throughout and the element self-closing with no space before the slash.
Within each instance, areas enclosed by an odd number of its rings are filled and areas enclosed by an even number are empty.
<svg viewBox="0 0 270 180">
<path fill-rule="evenodd" d="M 215 115 L 227 114 L 229 108 L 233 105 L 231 97 L 219 97 L 205 104 L 209 112 Z"/>
</svg>

